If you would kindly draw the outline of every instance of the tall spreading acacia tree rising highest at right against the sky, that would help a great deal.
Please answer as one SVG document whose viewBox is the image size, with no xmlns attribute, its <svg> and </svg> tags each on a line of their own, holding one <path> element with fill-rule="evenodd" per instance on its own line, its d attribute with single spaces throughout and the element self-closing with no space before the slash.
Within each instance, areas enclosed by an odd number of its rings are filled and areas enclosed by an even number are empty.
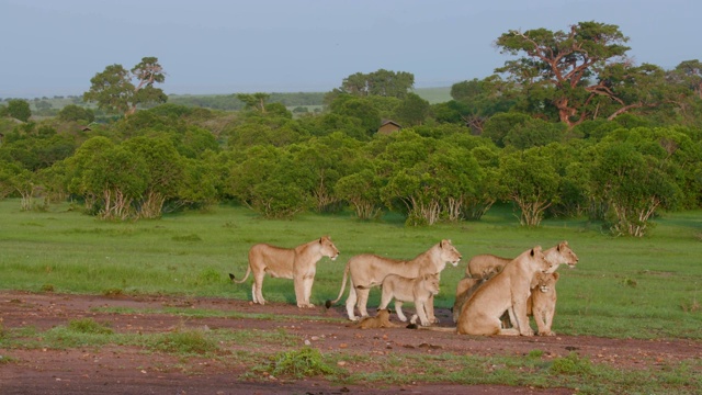
<svg viewBox="0 0 702 395">
<path fill-rule="evenodd" d="M 554 106 L 561 122 L 571 127 L 602 115 L 605 103 L 613 103 L 604 114 L 610 117 L 655 105 L 656 98 L 644 94 L 652 88 L 655 67 L 634 67 L 626 57 L 627 41 L 619 26 L 598 22 L 579 22 L 568 32 L 510 31 L 497 40 L 497 47 L 502 54 L 525 56 L 495 71 L 507 74 L 529 98 Z M 645 87 L 638 86 L 641 78 L 647 78 Z"/>
</svg>

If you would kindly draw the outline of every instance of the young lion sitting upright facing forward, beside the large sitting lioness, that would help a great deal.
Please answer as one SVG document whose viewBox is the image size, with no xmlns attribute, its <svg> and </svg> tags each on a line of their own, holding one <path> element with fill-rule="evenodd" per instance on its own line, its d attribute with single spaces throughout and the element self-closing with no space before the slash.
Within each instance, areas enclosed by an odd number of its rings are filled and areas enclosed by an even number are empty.
<svg viewBox="0 0 702 395">
<path fill-rule="evenodd" d="M 553 316 L 556 313 L 556 282 L 558 272 L 536 273 L 539 285 L 531 290 L 531 296 L 526 301 L 526 314 L 533 315 L 539 327 L 539 336 L 555 336 L 551 331 Z"/>
</svg>

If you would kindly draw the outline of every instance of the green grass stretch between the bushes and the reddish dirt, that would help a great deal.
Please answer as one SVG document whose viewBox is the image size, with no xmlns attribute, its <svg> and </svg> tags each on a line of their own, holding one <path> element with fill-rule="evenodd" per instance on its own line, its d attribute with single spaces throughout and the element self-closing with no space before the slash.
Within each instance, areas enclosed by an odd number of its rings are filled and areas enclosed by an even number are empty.
<svg viewBox="0 0 702 395">
<path fill-rule="evenodd" d="M 341 256 L 319 261 L 312 302 L 336 298 L 346 261 L 371 252 L 414 258 L 443 238 L 463 260 L 442 273 L 439 307 L 453 305 L 455 286 L 473 255 L 517 256 L 568 240 L 580 258 L 562 268 L 554 330 L 615 338 L 702 339 L 702 212 L 665 214 L 643 239 L 613 238 L 586 219 L 546 219 L 518 226 L 509 206 L 479 222 L 408 228 L 388 215 L 359 222 L 351 214 L 306 214 L 294 221 L 263 219 L 244 207 L 166 215 L 160 221 L 102 222 L 68 204 L 21 212 L 18 200 L 0 201 L 0 289 L 89 294 L 173 294 L 250 300 L 251 278 L 241 279 L 256 242 L 294 247 L 330 235 Z M 348 291 L 347 291 L 348 292 Z M 271 302 L 294 304 L 293 283 L 267 278 Z M 346 295 L 344 295 L 346 297 Z M 373 290 L 369 305 L 380 303 Z"/>
</svg>

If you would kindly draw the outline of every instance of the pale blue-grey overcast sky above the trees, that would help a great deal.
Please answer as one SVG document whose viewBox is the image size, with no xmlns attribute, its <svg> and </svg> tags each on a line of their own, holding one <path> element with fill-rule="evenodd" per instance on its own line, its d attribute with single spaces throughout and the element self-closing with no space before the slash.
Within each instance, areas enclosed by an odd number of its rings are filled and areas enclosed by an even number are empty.
<svg viewBox="0 0 702 395">
<path fill-rule="evenodd" d="M 166 93 L 328 91 L 355 72 L 415 87 L 485 78 L 509 30 L 620 26 L 636 64 L 702 59 L 700 0 L 0 0 L 0 98 L 82 94 L 155 56 Z"/>
</svg>

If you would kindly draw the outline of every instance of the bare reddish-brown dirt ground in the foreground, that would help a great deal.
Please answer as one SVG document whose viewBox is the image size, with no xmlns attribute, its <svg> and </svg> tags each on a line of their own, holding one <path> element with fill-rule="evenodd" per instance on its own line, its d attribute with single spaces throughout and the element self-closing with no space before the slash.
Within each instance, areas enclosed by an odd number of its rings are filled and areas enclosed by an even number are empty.
<svg viewBox="0 0 702 395">
<path fill-rule="evenodd" d="M 185 319 L 167 314 L 114 314 L 94 308 L 124 307 L 158 309 L 192 307 L 239 313 L 280 314 L 296 319 Z M 305 317 L 332 317 L 338 321 L 317 321 Z M 449 326 L 450 312 L 438 309 L 437 316 Z M 422 330 L 367 329 L 347 327 L 343 306 L 331 309 L 298 309 L 287 304 L 253 305 L 246 301 L 192 298 L 176 296 L 125 296 L 34 294 L 0 291 L 0 329 L 34 327 L 37 331 L 66 325 L 70 319 L 91 317 L 109 323 L 115 332 L 166 332 L 173 328 L 256 329 L 275 331 L 285 328 L 320 351 L 381 354 L 521 356 L 542 350 L 543 358 L 556 358 L 577 351 L 595 363 L 632 369 L 668 365 L 680 360 L 702 358 L 702 342 L 692 340 L 632 340 L 588 336 L 556 337 L 472 337 Z M 395 317 L 396 319 L 396 317 Z M 278 380 L 261 376 L 241 379 L 246 366 L 225 365 L 216 360 L 188 359 L 163 353 L 146 353 L 138 348 L 7 349 L 0 357 L 0 394 L 571 394 L 573 390 L 542 390 L 497 385 L 455 385 L 412 383 L 339 385 L 324 379 Z M 246 347 L 241 347 L 245 350 Z M 233 351 L 236 351 L 233 349 Z M 279 351 L 257 347 L 258 352 Z M 367 366 L 344 366 L 363 371 Z"/>
</svg>

